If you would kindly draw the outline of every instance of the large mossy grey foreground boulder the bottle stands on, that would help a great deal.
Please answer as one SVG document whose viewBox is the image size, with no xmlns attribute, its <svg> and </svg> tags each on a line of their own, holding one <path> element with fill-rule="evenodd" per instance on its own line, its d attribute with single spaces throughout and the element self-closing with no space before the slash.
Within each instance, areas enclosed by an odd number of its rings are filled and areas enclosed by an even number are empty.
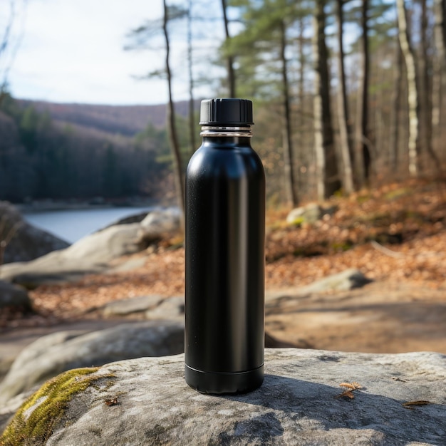
<svg viewBox="0 0 446 446">
<path fill-rule="evenodd" d="M 444 445 L 446 356 L 265 352 L 261 388 L 202 395 L 184 356 L 78 369 L 43 385 L 0 443 L 75 445 Z"/>
</svg>

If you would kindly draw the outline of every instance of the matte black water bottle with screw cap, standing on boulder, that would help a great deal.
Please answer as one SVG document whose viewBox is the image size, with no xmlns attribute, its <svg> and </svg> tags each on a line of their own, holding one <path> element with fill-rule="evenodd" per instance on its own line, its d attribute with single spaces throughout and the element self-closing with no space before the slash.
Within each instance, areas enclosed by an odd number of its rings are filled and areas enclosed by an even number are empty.
<svg viewBox="0 0 446 446">
<path fill-rule="evenodd" d="M 186 174 L 185 378 L 244 393 L 264 378 L 265 176 L 252 103 L 201 104 L 202 146 Z"/>
</svg>

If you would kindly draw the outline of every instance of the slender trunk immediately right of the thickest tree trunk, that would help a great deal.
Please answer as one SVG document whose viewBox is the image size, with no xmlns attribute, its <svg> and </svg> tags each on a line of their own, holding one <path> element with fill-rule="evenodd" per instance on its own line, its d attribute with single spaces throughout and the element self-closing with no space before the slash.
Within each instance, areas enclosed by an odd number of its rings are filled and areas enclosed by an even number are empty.
<svg viewBox="0 0 446 446">
<path fill-rule="evenodd" d="M 348 102 L 346 93 L 346 73 L 344 70 L 344 47 L 343 47 L 343 0 L 336 1 L 336 19 L 338 22 L 338 119 L 339 139 L 341 141 L 341 158 L 343 163 L 343 188 L 350 194 L 353 192 L 353 147 L 349 137 L 348 126 Z"/>
</svg>

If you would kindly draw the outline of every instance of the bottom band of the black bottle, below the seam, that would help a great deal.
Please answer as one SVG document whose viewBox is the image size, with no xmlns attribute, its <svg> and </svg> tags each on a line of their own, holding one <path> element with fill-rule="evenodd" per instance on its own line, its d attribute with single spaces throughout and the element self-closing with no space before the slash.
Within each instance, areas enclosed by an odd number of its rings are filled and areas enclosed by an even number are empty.
<svg viewBox="0 0 446 446">
<path fill-rule="evenodd" d="M 263 364 L 239 373 L 218 373 L 196 370 L 185 364 L 185 379 L 190 387 L 199 393 L 224 395 L 230 393 L 247 393 L 259 388 L 264 380 Z"/>
</svg>

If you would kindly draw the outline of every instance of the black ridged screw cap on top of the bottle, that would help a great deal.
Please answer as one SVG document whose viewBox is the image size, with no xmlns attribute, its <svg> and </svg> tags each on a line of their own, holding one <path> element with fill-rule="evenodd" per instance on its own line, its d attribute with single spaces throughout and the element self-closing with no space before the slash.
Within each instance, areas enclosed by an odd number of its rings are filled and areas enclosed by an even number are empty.
<svg viewBox="0 0 446 446">
<path fill-rule="evenodd" d="M 252 102 L 248 99 L 218 98 L 202 100 L 200 125 L 246 127 L 253 125 Z"/>
</svg>

